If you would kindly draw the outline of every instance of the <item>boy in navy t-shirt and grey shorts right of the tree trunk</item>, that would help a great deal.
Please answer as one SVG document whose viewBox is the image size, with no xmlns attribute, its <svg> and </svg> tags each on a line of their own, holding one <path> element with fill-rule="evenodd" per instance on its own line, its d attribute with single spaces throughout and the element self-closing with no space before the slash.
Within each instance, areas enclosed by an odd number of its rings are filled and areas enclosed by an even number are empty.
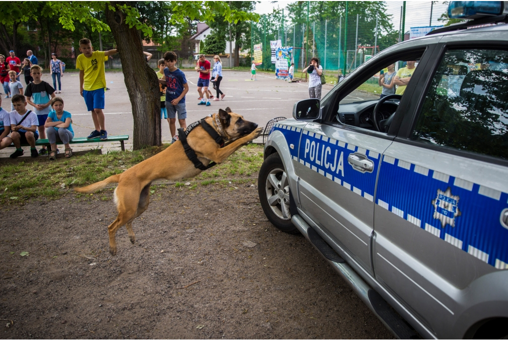
<svg viewBox="0 0 508 340">
<path fill-rule="evenodd" d="M 159 79 L 161 84 L 166 84 L 166 109 L 168 110 L 169 118 L 169 130 L 171 136 L 173 136 L 174 142 L 177 138 L 176 135 L 176 113 L 178 112 L 178 123 L 180 128 L 183 130 L 187 129 L 187 111 L 185 110 L 185 94 L 189 90 L 187 79 L 176 64 L 177 56 L 176 53 L 166 52 L 164 53 L 164 61 L 167 68 L 164 69 L 164 76 Z"/>
</svg>

